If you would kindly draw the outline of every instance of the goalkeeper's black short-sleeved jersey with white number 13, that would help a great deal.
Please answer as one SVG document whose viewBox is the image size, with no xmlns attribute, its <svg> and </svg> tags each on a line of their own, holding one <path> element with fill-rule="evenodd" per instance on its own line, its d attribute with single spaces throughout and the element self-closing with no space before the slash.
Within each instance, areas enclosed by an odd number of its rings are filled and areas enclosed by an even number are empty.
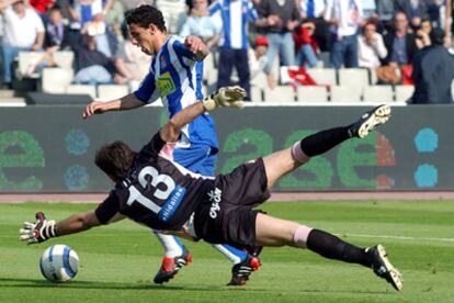
<svg viewBox="0 0 454 303">
<path fill-rule="evenodd" d="M 97 217 L 107 223 L 117 212 L 154 229 L 180 229 L 208 199 L 214 178 L 190 172 L 159 156 L 166 145 L 158 134 L 137 154 L 128 177 L 102 202 Z"/>
</svg>

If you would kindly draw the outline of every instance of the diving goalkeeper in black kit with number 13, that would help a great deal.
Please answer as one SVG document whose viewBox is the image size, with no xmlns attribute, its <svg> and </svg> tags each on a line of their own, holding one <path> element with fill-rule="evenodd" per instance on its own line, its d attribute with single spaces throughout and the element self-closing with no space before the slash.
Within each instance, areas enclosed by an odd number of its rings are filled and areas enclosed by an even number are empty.
<svg viewBox="0 0 454 303">
<path fill-rule="evenodd" d="M 243 103 L 238 100 L 245 96 L 241 88 L 223 88 L 203 102 L 186 106 L 138 153 L 122 142 L 101 147 L 95 164 L 115 182 L 104 202 L 95 210 L 57 223 L 37 213 L 35 223 L 24 223 L 20 238 L 29 244 L 39 243 L 129 217 L 154 229 L 238 248 L 284 245 L 307 248 L 326 258 L 372 268 L 396 290 L 401 290 L 400 272 L 389 262 L 382 245 L 360 248 L 329 233 L 252 209 L 270 197 L 270 189 L 284 175 L 351 137 L 365 137 L 385 123 L 390 108 L 381 105 L 353 124 L 309 135 L 290 148 L 215 178 L 192 173 L 160 153 L 166 143 L 179 138 L 185 124 L 219 105 L 241 108 Z"/>
</svg>

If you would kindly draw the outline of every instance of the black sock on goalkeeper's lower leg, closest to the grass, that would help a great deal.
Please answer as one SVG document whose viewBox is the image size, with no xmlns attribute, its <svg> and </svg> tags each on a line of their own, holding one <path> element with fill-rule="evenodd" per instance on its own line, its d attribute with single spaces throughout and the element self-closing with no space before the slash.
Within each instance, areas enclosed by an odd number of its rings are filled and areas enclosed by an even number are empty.
<svg viewBox="0 0 454 303">
<path fill-rule="evenodd" d="M 365 249 L 348 244 L 337 236 L 313 229 L 307 238 L 307 248 L 328 259 L 341 260 L 371 267 L 371 258 Z"/>
</svg>

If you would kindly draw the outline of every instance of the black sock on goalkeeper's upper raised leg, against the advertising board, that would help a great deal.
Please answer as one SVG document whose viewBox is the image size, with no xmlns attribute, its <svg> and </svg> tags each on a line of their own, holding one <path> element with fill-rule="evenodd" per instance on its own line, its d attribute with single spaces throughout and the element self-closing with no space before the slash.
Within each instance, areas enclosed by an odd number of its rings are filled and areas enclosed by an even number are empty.
<svg viewBox="0 0 454 303">
<path fill-rule="evenodd" d="M 302 139 L 302 150 L 306 156 L 321 155 L 338 144 L 350 138 L 349 126 L 321 131 Z"/>
</svg>

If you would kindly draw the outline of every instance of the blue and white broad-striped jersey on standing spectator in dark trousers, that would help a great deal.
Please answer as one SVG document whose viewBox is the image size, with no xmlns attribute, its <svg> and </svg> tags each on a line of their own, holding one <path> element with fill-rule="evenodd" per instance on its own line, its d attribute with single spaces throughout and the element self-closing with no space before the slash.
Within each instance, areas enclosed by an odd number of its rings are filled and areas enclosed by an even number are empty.
<svg viewBox="0 0 454 303">
<path fill-rule="evenodd" d="M 248 48 L 248 22 L 259 15 L 250 0 L 217 0 L 209 5 L 209 13 L 220 10 L 223 36 L 219 45 L 234 49 Z"/>
</svg>

